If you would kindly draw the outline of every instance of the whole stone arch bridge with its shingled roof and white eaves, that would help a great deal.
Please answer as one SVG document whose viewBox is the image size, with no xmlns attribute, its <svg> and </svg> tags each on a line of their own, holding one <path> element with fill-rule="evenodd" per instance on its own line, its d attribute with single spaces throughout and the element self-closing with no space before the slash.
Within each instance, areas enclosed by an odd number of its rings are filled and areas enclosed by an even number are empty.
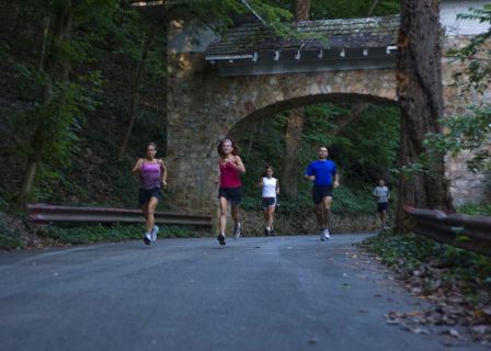
<svg viewBox="0 0 491 351">
<path fill-rule="evenodd" d="M 170 190 L 185 208 L 209 212 L 216 203 L 216 146 L 233 128 L 306 104 L 328 101 L 397 103 L 395 52 L 398 18 L 300 22 L 297 30 L 321 39 L 282 39 L 259 23 L 243 23 L 221 39 L 190 48 L 173 23 L 169 50 L 168 145 Z M 466 37 L 447 37 L 445 47 Z M 192 46 L 192 45 L 191 45 Z M 443 58 L 445 114 L 468 101 L 452 87 L 459 69 Z M 454 199 L 484 194 L 482 176 L 463 161 L 448 162 Z M 459 191 L 459 182 L 470 188 Z M 466 193 L 467 192 L 467 193 Z"/>
</svg>

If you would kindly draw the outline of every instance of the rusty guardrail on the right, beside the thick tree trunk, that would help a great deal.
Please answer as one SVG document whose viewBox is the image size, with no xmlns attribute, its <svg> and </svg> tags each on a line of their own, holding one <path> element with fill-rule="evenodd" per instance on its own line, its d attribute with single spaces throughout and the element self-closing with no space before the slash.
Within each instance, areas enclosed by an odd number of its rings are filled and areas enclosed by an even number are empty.
<svg viewBox="0 0 491 351">
<path fill-rule="evenodd" d="M 491 217 L 446 215 L 439 210 L 403 206 L 413 220 L 412 230 L 419 235 L 455 247 L 491 256 Z"/>
</svg>

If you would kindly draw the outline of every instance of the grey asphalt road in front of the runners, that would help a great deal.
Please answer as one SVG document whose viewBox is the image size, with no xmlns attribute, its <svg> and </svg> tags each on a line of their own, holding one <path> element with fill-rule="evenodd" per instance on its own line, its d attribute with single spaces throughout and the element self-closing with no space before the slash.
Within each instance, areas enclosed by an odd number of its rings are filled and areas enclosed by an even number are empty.
<svg viewBox="0 0 491 351">
<path fill-rule="evenodd" d="M 3 252 L 0 350 L 446 350 L 441 335 L 386 322 L 421 302 L 352 246 L 364 237 Z"/>
</svg>

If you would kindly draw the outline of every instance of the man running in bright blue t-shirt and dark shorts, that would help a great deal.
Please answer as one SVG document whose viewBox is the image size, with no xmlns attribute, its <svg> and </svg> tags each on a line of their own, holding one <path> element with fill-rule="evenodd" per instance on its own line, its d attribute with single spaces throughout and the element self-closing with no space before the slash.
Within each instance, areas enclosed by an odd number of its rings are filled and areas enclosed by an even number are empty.
<svg viewBox="0 0 491 351">
<path fill-rule="evenodd" d="M 305 171 L 305 178 L 313 183 L 312 199 L 316 203 L 317 225 L 320 229 L 320 239 L 327 241 L 329 236 L 329 219 L 331 218 L 332 193 L 339 186 L 339 177 L 335 163 L 328 160 L 328 148 L 318 148 L 319 159 L 312 161 Z"/>
</svg>

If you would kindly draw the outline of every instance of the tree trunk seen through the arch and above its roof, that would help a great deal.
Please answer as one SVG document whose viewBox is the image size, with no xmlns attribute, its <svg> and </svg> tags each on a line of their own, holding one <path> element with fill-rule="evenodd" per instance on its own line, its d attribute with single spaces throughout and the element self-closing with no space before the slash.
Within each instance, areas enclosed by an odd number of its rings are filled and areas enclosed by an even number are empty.
<svg viewBox="0 0 491 351">
<path fill-rule="evenodd" d="M 308 21 L 310 18 L 310 0 L 295 0 L 295 21 Z M 289 112 L 285 137 L 285 162 L 282 174 L 283 193 L 296 196 L 298 190 L 298 149 L 304 129 L 304 109 Z"/>
</svg>

